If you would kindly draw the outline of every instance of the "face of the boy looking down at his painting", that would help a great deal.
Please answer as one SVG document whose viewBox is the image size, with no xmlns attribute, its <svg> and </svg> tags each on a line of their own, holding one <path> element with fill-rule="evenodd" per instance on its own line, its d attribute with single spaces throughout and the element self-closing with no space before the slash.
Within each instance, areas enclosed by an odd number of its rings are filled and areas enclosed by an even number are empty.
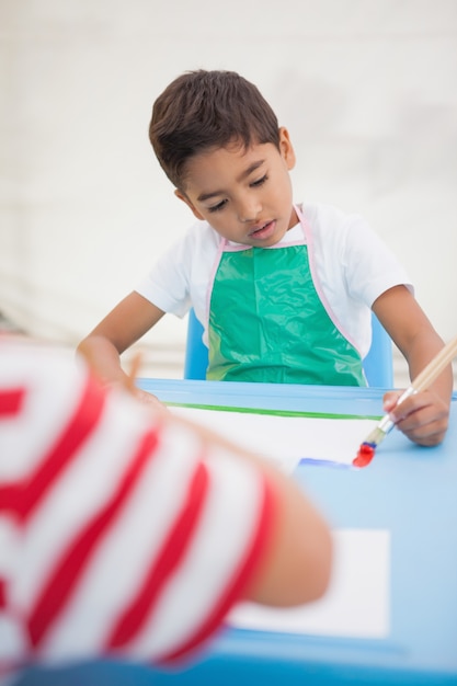
<svg viewBox="0 0 457 686">
<path fill-rule="evenodd" d="M 281 128 L 279 150 L 270 142 L 248 149 L 233 142 L 196 155 L 187 163 L 185 194 L 175 194 L 224 238 L 265 248 L 297 224 L 288 173 L 294 164 L 288 133 Z"/>
</svg>

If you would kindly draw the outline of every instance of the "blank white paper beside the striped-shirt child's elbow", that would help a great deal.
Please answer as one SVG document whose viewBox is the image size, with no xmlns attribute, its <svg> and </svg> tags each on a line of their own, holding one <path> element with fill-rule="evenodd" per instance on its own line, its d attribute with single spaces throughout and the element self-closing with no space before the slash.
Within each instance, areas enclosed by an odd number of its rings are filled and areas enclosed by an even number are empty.
<svg viewBox="0 0 457 686">
<path fill-rule="evenodd" d="M 390 631 L 390 533 L 333 531 L 334 564 L 327 594 L 295 608 L 238 605 L 228 624 L 241 629 L 385 639 Z"/>
</svg>

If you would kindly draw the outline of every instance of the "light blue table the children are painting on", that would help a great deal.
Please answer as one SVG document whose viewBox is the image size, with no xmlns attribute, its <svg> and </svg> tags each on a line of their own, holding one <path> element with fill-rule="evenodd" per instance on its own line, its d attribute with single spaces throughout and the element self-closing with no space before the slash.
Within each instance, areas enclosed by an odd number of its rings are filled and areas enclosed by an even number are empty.
<svg viewBox="0 0 457 686">
<path fill-rule="evenodd" d="M 162 379 L 140 385 L 168 402 L 381 414 L 377 389 Z M 31 671 L 21 686 L 457 684 L 457 397 L 442 446 L 420 448 L 392 432 L 366 469 L 304 465 L 296 478 L 332 526 L 390 530 L 388 639 L 229 629 L 202 662 L 180 673 L 99 662 Z"/>
</svg>

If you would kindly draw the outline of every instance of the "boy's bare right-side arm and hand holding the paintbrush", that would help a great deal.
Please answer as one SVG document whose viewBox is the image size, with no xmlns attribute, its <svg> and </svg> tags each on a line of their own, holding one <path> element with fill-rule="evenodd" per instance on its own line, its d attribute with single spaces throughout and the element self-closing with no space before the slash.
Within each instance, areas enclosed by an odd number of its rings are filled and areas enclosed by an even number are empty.
<svg viewBox="0 0 457 686">
<path fill-rule="evenodd" d="M 373 305 L 373 310 L 404 355 L 411 381 L 442 350 L 444 343 L 414 296 L 404 286 L 384 293 Z M 452 366 L 420 393 L 397 405 L 401 392 L 385 395 L 385 411 L 411 441 L 419 445 L 439 444 L 447 431 L 453 392 Z"/>
</svg>

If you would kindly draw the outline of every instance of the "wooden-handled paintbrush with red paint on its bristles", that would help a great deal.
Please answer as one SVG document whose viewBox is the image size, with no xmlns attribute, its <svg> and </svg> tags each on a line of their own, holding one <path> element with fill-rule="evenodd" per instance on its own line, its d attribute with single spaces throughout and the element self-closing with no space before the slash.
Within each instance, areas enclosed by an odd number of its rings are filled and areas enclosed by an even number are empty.
<svg viewBox="0 0 457 686">
<path fill-rule="evenodd" d="M 457 354 L 457 336 L 449 341 L 439 353 L 426 365 L 426 367 L 415 377 L 413 382 L 407 390 L 400 396 L 397 404 L 400 404 L 414 393 L 419 393 L 422 390 L 429 388 L 431 384 L 439 376 L 444 368 L 452 362 L 453 357 Z M 362 443 L 358 453 L 353 460 L 355 467 L 366 467 L 375 457 L 375 450 L 378 445 L 386 438 L 387 434 L 392 431 L 395 422 L 388 414 L 381 419 L 379 424 L 372 431 L 370 434 Z"/>
</svg>

